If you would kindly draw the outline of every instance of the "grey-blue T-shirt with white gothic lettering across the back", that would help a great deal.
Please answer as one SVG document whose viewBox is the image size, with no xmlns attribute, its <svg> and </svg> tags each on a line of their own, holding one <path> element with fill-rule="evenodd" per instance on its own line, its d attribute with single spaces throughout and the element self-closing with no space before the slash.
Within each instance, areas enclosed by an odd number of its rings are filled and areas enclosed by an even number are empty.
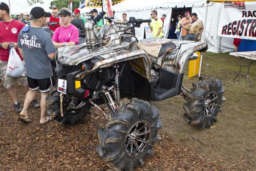
<svg viewBox="0 0 256 171">
<path fill-rule="evenodd" d="M 19 32 L 18 47 L 22 48 L 27 76 L 44 79 L 53 76 L 49 54 L 55 53 L 52 39 L 41 28 L 30 27 Z"/>
</svg>

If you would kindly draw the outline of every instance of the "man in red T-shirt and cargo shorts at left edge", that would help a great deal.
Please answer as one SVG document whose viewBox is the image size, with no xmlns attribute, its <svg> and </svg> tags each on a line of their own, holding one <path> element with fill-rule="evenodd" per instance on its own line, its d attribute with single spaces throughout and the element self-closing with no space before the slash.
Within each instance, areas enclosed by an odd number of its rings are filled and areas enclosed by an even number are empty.
<svg viewBox="0 0 256 171">
<path fill-rule="evenodd" d="M 19 85 L 24 86 L 25 91 L 29 90 L 27 77 L 10 77 L 6 75 L 6 68 L 9 59 L 10 46 L 16 49 L 16 52 L 20 56 L 18 48 L 18 33 L 25 26 L 22 22 L 12 19 L 9 14 L 9 7 L 5 3 L 0 2 L 0 70 L 2 74 L 2 83 L 5 89 L 8 90 L 8 94 L 12 102 L 14 103 L 14 109 L 17 113 L 22 111 L 20 103 L 17 101 L 15 82 L 17 80 Z M 21 57 L 20 57 L 21 58 Z M 22 58 L 21 58 L 22 59 Z M 22 59 L 23 60 L 23 59 Z M 33 100 L 32 105 L 34 108 L 39 108 L 38 102 Z"/>
</svg>

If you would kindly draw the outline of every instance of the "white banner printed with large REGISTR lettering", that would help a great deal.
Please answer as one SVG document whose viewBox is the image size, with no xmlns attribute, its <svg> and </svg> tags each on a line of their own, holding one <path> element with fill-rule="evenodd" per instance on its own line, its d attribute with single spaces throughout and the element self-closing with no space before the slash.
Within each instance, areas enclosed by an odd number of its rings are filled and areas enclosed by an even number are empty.
<svg viewBox="0 0 256 171">
<path fill-rule="evenodd" d="M 223 3 L 218 35 L 256 40 L 256 2 Z"/>
</svg>

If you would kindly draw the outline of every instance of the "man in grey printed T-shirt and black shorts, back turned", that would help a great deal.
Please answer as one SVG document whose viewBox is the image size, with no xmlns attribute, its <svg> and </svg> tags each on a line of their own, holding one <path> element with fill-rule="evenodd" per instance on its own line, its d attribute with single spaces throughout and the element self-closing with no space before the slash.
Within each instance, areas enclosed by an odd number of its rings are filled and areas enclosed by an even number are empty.
<svg viewBox="0 0 256 171">
<path fill-rule="evenodd" d="M 28 117 L 28 106 L 35 98 L 38 90 L 41 94 L 40 124 L 45 124 L 51 120 L 51 117 L 46 116 L 46 97 L 50 91 L 51 76 L 53 76 L 50 59 L 54 59 L 56 49 L 50 35 L 41 28 L 47 23 L 46 17 L 50 16 L 51 13 L 45 12 L 41 7 L 34 7 L 30 12 L 30 17 L 33 20 L 32 25 L 24 27 L 18 37 L 18 50 L 25 58 L 29 84 L 24 108 L 18 118 L 24 123 L 31 122 Z"/>
</svg>

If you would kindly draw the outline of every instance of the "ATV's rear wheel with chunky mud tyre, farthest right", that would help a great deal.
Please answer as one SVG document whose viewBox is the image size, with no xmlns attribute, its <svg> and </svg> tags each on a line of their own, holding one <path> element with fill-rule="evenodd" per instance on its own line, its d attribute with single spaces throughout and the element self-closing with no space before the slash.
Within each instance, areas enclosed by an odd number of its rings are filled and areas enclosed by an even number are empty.
<svg viewBox="0 0 256 171">
<path fill-rule="evenodd" d="M 210 128 L 217 122 L 220 111 L 222 95 L 225 92 L 222 81 L 213 77 L 200 77 L 199 82 L 193 83 L 191 98 L 183 104 L 184 119 L 199 129 Z"/>
</svg>

